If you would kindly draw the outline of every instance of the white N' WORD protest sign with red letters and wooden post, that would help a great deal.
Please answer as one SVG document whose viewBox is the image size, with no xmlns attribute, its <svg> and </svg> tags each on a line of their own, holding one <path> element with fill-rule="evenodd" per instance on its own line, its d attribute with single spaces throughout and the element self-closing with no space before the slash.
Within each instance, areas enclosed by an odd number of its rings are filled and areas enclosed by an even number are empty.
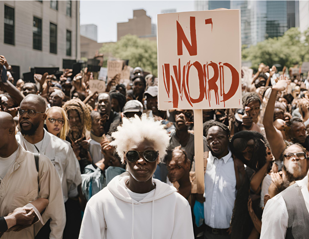
<svg viewBox="0 0 309 239">
<path fill-rule="evenodd" d="M 158 15 L 158 107 L 194 111 L 195 172 L 204 193 L 202 109 L 239 108 L 239 10 Z"/>
</svg>

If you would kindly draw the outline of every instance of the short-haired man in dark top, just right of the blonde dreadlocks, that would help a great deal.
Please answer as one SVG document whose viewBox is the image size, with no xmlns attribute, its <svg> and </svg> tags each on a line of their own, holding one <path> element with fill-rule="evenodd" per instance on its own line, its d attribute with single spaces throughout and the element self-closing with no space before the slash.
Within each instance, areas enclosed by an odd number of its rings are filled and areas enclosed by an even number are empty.
<svg viewBox="0 0 309 239">
<path fill-rule="evenodd" d="M 108 93 L 101 93 L 98 96 L 98 112 L 101 115 L 100 124 L 104 126 L 104 132 L 109 131 L 109 127 L 115 121 L 120 121 L 120 114 L 112 110 L 112 99 Z"/>
</svg>

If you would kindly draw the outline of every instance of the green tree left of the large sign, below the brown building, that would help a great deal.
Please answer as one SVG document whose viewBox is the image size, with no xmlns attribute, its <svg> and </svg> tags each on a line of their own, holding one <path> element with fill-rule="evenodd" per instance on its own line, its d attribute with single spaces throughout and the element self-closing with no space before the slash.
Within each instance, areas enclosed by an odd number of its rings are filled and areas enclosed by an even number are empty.
<svg viewBox="0 0 309 239">
<path fill-rule="evenodd" d="M 116 43 L 105 43 L 100 49 L 104 56 L 129 60 L 129 65 L 140 66 L 145 71 L 158 75 L 157 42 L 138 38 L 130 34 Z"/>
</svg>

